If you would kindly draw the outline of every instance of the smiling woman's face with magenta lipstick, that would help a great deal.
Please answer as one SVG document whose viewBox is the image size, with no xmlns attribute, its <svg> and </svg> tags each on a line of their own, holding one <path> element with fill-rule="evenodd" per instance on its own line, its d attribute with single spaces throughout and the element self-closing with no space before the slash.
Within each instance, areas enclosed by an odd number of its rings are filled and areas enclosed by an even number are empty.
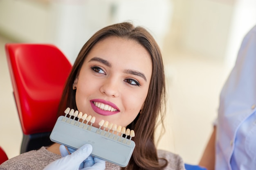
<svg viewBox="0 0 256 170">
<path fill-rule="evenodd" d="M 142 109 L 152 74 L 150 55 L 134 40 L 110 37 L 86 57 L 74 83 L 79 112 L 126 127 Z"/>
</svg>

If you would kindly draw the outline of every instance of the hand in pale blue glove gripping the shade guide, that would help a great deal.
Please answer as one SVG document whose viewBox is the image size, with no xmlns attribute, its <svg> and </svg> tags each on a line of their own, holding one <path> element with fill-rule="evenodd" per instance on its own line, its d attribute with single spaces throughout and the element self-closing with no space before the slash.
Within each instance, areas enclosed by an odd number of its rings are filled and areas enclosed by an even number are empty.
<svg viewBox="0 0 256 170">
<path fill-rule="evenodd" d="M 63 146 L 60 148 L 63 149 Z M 90 156 L 91 153 L 92 145 L 85 144 L 81 146 L 81 148 L 79 148 L 78 150 L 74 151 L 72 154 L 65 155 L 65 157 L 53 161 L 48 166 L 46 166 L 44 170 L 78 170 L 81 162 L 86 160 L 88 157 L 91 157 L 91 159 L 93 160 L 93 164 L 90 160 L 90 166 L 85 163 L 82 170 L 105 170 L 105 161 L 97 157 Z"/>
</svg>

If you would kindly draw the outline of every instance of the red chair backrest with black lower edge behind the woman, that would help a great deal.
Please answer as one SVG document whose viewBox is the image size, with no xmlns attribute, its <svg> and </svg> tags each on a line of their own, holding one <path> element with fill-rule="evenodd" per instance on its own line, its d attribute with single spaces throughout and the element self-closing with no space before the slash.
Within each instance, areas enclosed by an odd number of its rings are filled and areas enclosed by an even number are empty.
<svg viewBox="0 0 256 170">
<path fill-rule="evenodd" d="M 14 43 L 5 51 L 23 132 L 20 153 L 47 146 L 72 65 L 54 45 Z"/>
</svg>

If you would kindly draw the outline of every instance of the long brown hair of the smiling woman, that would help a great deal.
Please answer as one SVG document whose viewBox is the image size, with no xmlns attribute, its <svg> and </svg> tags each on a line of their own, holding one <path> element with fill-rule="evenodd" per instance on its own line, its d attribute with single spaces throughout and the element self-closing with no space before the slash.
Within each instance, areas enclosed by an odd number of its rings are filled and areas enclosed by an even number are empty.
<svg viewBox="0 0 256 170">
<path fill-rule="evenodd" d="M 136 133 L 135 137 L 133 138 L 136 147 L 126 169 L 160 170 L 167 166 L 166 159 L 164 159 L 165 163 L 159 163 L 157 149 L 155 146 L 155 127 L 157 125 L 157 120 L 160 118 L 160 123 L 162 123 L 165 115 L 166 90 L 164 66 L 162 54 L 157 42 L 145 28 L 135 27 L 130 22 L 110 25 L 97 31 L 85 43 L 85 45 L 83 45 L 78 57 L 74 62 L 71 73 L 67 78 L 59 105 L 58 116 L 63 115 L 63 112 L 67 107 L 77 110 L 75 90 L 72 89 L 72 84 L 74 83 L 74 80 L 78 75 L 81 66 L 83 65 L 83 61 L 87 57 L 92 47 L 94 47 L 94 45 L 100 40 L 111 36 L 135 40 L 148 51 L 153 63 L 152 76 L 148 89 L 148 95 L 144 102 L 144 107 L 136 119 L 127 126 L 127 128 L 134 130 Z"/>
</svg>

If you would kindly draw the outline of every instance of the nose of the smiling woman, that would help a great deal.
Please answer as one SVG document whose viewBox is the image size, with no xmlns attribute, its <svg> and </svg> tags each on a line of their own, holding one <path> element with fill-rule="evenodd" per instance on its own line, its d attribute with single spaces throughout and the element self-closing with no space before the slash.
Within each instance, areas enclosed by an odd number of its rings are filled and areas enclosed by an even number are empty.
<svg viewBox="0 0 256 170">
<path fill-rule="evenodd" d="M 100 87 L 100 91 L 107 96 L 118 97 L 119 96 L 119 84 L 114 78 L 106 78 Z"/>
</svg>

